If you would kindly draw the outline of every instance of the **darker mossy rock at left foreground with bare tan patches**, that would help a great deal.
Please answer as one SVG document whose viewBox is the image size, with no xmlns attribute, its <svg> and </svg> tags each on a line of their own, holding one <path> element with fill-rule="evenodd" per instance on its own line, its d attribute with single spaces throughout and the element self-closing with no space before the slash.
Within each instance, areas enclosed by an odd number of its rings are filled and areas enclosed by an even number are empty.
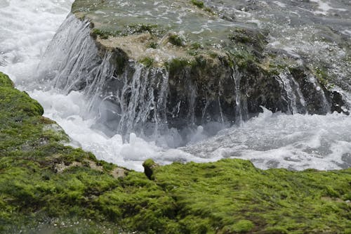
<svg viewBox="0 0 351 234">
<path fill-rule="evenodd" d="M 119 186 L 110 175 L 116 166 L 63 145 L 67 135 L 43 112 L 0 72 L 0 233 L 55 229 L 74 217 L 86 226 L 100 216 L 94 197 Z"/>
</svg>

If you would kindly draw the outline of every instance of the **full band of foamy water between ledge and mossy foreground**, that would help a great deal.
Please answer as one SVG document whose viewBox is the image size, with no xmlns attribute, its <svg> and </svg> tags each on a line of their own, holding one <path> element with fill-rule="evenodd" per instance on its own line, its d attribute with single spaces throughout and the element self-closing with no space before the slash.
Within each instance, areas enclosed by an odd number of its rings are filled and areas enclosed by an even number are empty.
<svg viewBox="0 0 351 234">
<path fill-rule="evenodd" d="M 144 160 L 152 158 L 161 164 L 180 162 L 213 162 L 226 157 L 251 160 L 256 167 L 267 169 L 340 169 L 343 157 L 350 157 L 351 117 L 337 113 L 321 115 L 285 115 L 264 110 L 258 117 L 241 126 L 220 131 L 217 136 L 184 148 L 166 149 L 131 134 L 129 142 L 121 136 L 109 138 L 91 126 L 94 119 L 79 116 L 84 107 L 81 93 L 63 96 L 55 91 L 30 93 L 84 150 L 107 162 L 142 171 Z M 61 105 L 60 103 L 65 103 Z M 193 139 L 202 138 L 198 127 Z M 347 155 L 349 154 L 349 155 Z"/>
</svg>

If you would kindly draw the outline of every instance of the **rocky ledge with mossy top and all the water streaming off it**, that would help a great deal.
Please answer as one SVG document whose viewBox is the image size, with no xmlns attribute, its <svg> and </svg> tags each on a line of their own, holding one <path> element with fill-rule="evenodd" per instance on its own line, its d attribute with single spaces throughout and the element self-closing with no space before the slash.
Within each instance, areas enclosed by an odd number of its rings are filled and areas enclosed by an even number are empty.
<svg viewBox="0 0 351 234">
<path fill-rule="evenodd" d="M 84 90 L 93 97 L 91 108 L 106 112 L 102 122 L 119 134 L 233 124 L 257 115 L 261 105 L 274 112 L 348 113 L 322 65 L 270 49 L 268 32 L 210 5 L 76 0 L 72 13 L 88 23 L 88 34 L 71 16 L 46 59 L 62 65 L 42 77 L 67 92 Z M 70 57 L 56 58 L 62 51 Z"/>
</svg>

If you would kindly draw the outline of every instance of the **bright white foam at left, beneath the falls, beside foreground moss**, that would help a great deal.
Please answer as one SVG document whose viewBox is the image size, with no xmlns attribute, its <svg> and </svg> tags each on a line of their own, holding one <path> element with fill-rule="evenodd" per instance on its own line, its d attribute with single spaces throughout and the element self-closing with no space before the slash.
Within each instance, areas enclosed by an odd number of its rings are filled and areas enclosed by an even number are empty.
<svg viewBox="0 0 351 234">
<path fill-rule="evenodd" d="M 142 163 L 149 158 L 160 164 L 174 161 L 211 162 L 218 160 L 216 158 L 201 159 L 183 150 L 161 148 L 154 142 L 138 138 L 135 134 L 130 134 L 128 142 L 123 142 L 122 137 L 118 134 L 109 138 L 101 131 L 93 129 L 94 119 L 81 117 L 87 105 L 83 93 L 74 91 L 65 96 L 55 90 L 35 90 L 29 94 L 43 105 L 44 116 L 55 119 L 73 142 L 79 142 L 79 145 L 76 146 L 93 152 L 100 160 L 113 162 L 137 171 L 143 171 Z M 192 141 L 203 139 L 202 132 L 203 127 L 199 126 Z"/>
</svg>

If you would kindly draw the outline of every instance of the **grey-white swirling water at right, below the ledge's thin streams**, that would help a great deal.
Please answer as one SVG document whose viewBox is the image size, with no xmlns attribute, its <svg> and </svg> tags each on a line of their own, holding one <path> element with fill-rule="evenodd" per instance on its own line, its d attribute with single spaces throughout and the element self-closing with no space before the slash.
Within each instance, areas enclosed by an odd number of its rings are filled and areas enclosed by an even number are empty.
<svg viewBox="0 0 351 234">
<path fill-rule="evenodd" d="M 350 167 L 351 117 L 285 115 L 264 110 L 242 126 L 220 131 L 217 136 L 183 150 L 198 157 L 239 157 L 257 167 L 290 169 L 340 169 Z"/>
</svg>

